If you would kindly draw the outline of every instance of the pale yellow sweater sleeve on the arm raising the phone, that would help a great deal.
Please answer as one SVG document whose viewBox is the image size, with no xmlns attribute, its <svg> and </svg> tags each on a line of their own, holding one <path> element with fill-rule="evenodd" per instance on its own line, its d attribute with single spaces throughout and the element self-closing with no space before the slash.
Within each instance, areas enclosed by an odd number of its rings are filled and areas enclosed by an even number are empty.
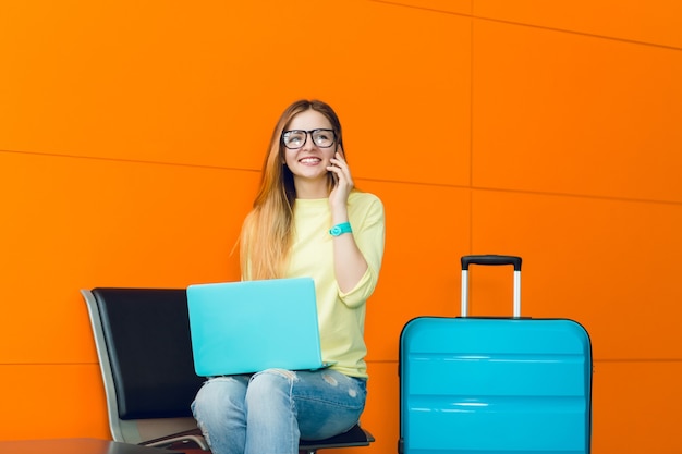
<svg viewBox="0 0 682 454">
<path fill-rule="evenodd" d="M 339 298 L 348 307 L 363 305 L 379 280 L 385 244 L 385 214 L 381 200 L 369 193 L 356 193 L 349 200 L 349 218 L 355 244 L 367 262 L 367 271 L 350 292 L 339 290 Z"/>
</svg>

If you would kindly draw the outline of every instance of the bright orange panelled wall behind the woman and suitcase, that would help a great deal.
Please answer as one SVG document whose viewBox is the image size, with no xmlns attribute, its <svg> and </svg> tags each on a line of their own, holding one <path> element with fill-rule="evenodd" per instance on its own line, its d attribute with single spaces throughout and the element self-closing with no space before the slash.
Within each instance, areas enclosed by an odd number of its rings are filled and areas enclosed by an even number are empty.
<svg viewBox="0 0 682 454">
<path fill-rule="evenodd" d="M 236 279 L 271 127 L 316 97 L 387 212 L 377 442 L 346 452 L 395 452 L 402 326 L 456 315 L 459 257 L 499 253 L 524 315 L 592 335 L 594 453 L 679 453 L 681 4 L 4 0 L 0 440 L 109 435 L 78 290 Z M 509 277 L 473 279 L 504 314 Z"/>
</svg>

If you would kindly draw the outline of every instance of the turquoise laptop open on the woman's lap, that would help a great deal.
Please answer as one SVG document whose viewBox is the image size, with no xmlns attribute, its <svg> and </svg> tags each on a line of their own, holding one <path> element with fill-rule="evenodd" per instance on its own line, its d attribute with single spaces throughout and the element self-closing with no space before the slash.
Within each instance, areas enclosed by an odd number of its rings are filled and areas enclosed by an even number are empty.
<svg viewBox="0 0 682 454">
<path fill-rule="evenodd" d="M 187 308 L 199 377 L 329 366 L 310 278 L 190 285 Z"/>
</svg>

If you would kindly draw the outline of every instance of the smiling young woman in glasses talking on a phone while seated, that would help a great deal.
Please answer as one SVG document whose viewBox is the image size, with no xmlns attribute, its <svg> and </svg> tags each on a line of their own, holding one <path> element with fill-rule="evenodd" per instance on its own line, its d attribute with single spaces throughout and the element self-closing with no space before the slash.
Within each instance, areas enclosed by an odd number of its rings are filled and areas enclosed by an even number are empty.
<svg viewBox="0 0 682 454">
<path fill-rule="evenodd" d="M 341 123 L 321 101 L 282 113 L 242 228 L 242 279 L 312 277 L 328 369 L 210 378 L 192 404 L 214 454 L 295 454 L 365 406 L 365 303 L 383 256 L 383 206 L 354 188 Z M 287 335 L 287 333 L 282 333 Z M 245 340 L 245 342 L 248 342 Z"/>
</svg>

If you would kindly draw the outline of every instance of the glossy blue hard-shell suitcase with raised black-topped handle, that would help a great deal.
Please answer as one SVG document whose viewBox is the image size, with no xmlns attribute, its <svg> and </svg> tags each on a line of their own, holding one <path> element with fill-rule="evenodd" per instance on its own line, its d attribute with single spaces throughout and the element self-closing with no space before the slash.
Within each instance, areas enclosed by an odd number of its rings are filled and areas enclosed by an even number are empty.
<svg viewBox="0 0 682 454">
<path fill-rule="evenodd" d="M 514 266 L 513 317 L 467 317 L 470 265 Z M 520 257 L 462 257 L 462 316 L 409 321 L 399 369 L 401 454 L 589 453 L 589 336 L 521 317 Z"/>
</svg>

